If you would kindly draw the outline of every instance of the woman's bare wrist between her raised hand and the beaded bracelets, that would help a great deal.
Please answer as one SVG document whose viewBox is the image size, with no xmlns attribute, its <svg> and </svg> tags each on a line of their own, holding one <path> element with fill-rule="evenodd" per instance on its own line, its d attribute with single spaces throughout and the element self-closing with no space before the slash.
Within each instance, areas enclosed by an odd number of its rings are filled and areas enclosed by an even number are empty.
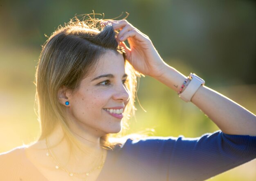
<svg viewBox="0 0 256 181">
<path fill-rule="evenodd" d="M 166 64 L 163 68 L 163 73 L 159 77 L 154 77 L 158 81 L 162 82 L 164 85 L 170 87 L 175 92 L 179 92 L 182 87 L 183 82 L 186 80 L 186 76 L 177 71 L 175 68 Z M 186 87 L 184 87 L 185 89 Z"/>
</svg>

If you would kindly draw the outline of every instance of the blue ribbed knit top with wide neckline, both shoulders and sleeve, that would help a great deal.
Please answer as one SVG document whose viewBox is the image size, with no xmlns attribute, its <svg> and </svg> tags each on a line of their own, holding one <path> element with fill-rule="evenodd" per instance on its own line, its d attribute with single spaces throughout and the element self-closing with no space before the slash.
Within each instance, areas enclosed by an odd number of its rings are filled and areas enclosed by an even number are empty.
<svg viewBox="0 0 256 181">
<path fill-rule="evenodd" d="M 256 158 L 256 136 L 150 136 L 108 150 L 97 181 L 202 181 Z M 4 163 L 4 164 L 1 164 Z M 0 180 L 47 181 L 21 146 L 0 154 Z"/>
</svg>

